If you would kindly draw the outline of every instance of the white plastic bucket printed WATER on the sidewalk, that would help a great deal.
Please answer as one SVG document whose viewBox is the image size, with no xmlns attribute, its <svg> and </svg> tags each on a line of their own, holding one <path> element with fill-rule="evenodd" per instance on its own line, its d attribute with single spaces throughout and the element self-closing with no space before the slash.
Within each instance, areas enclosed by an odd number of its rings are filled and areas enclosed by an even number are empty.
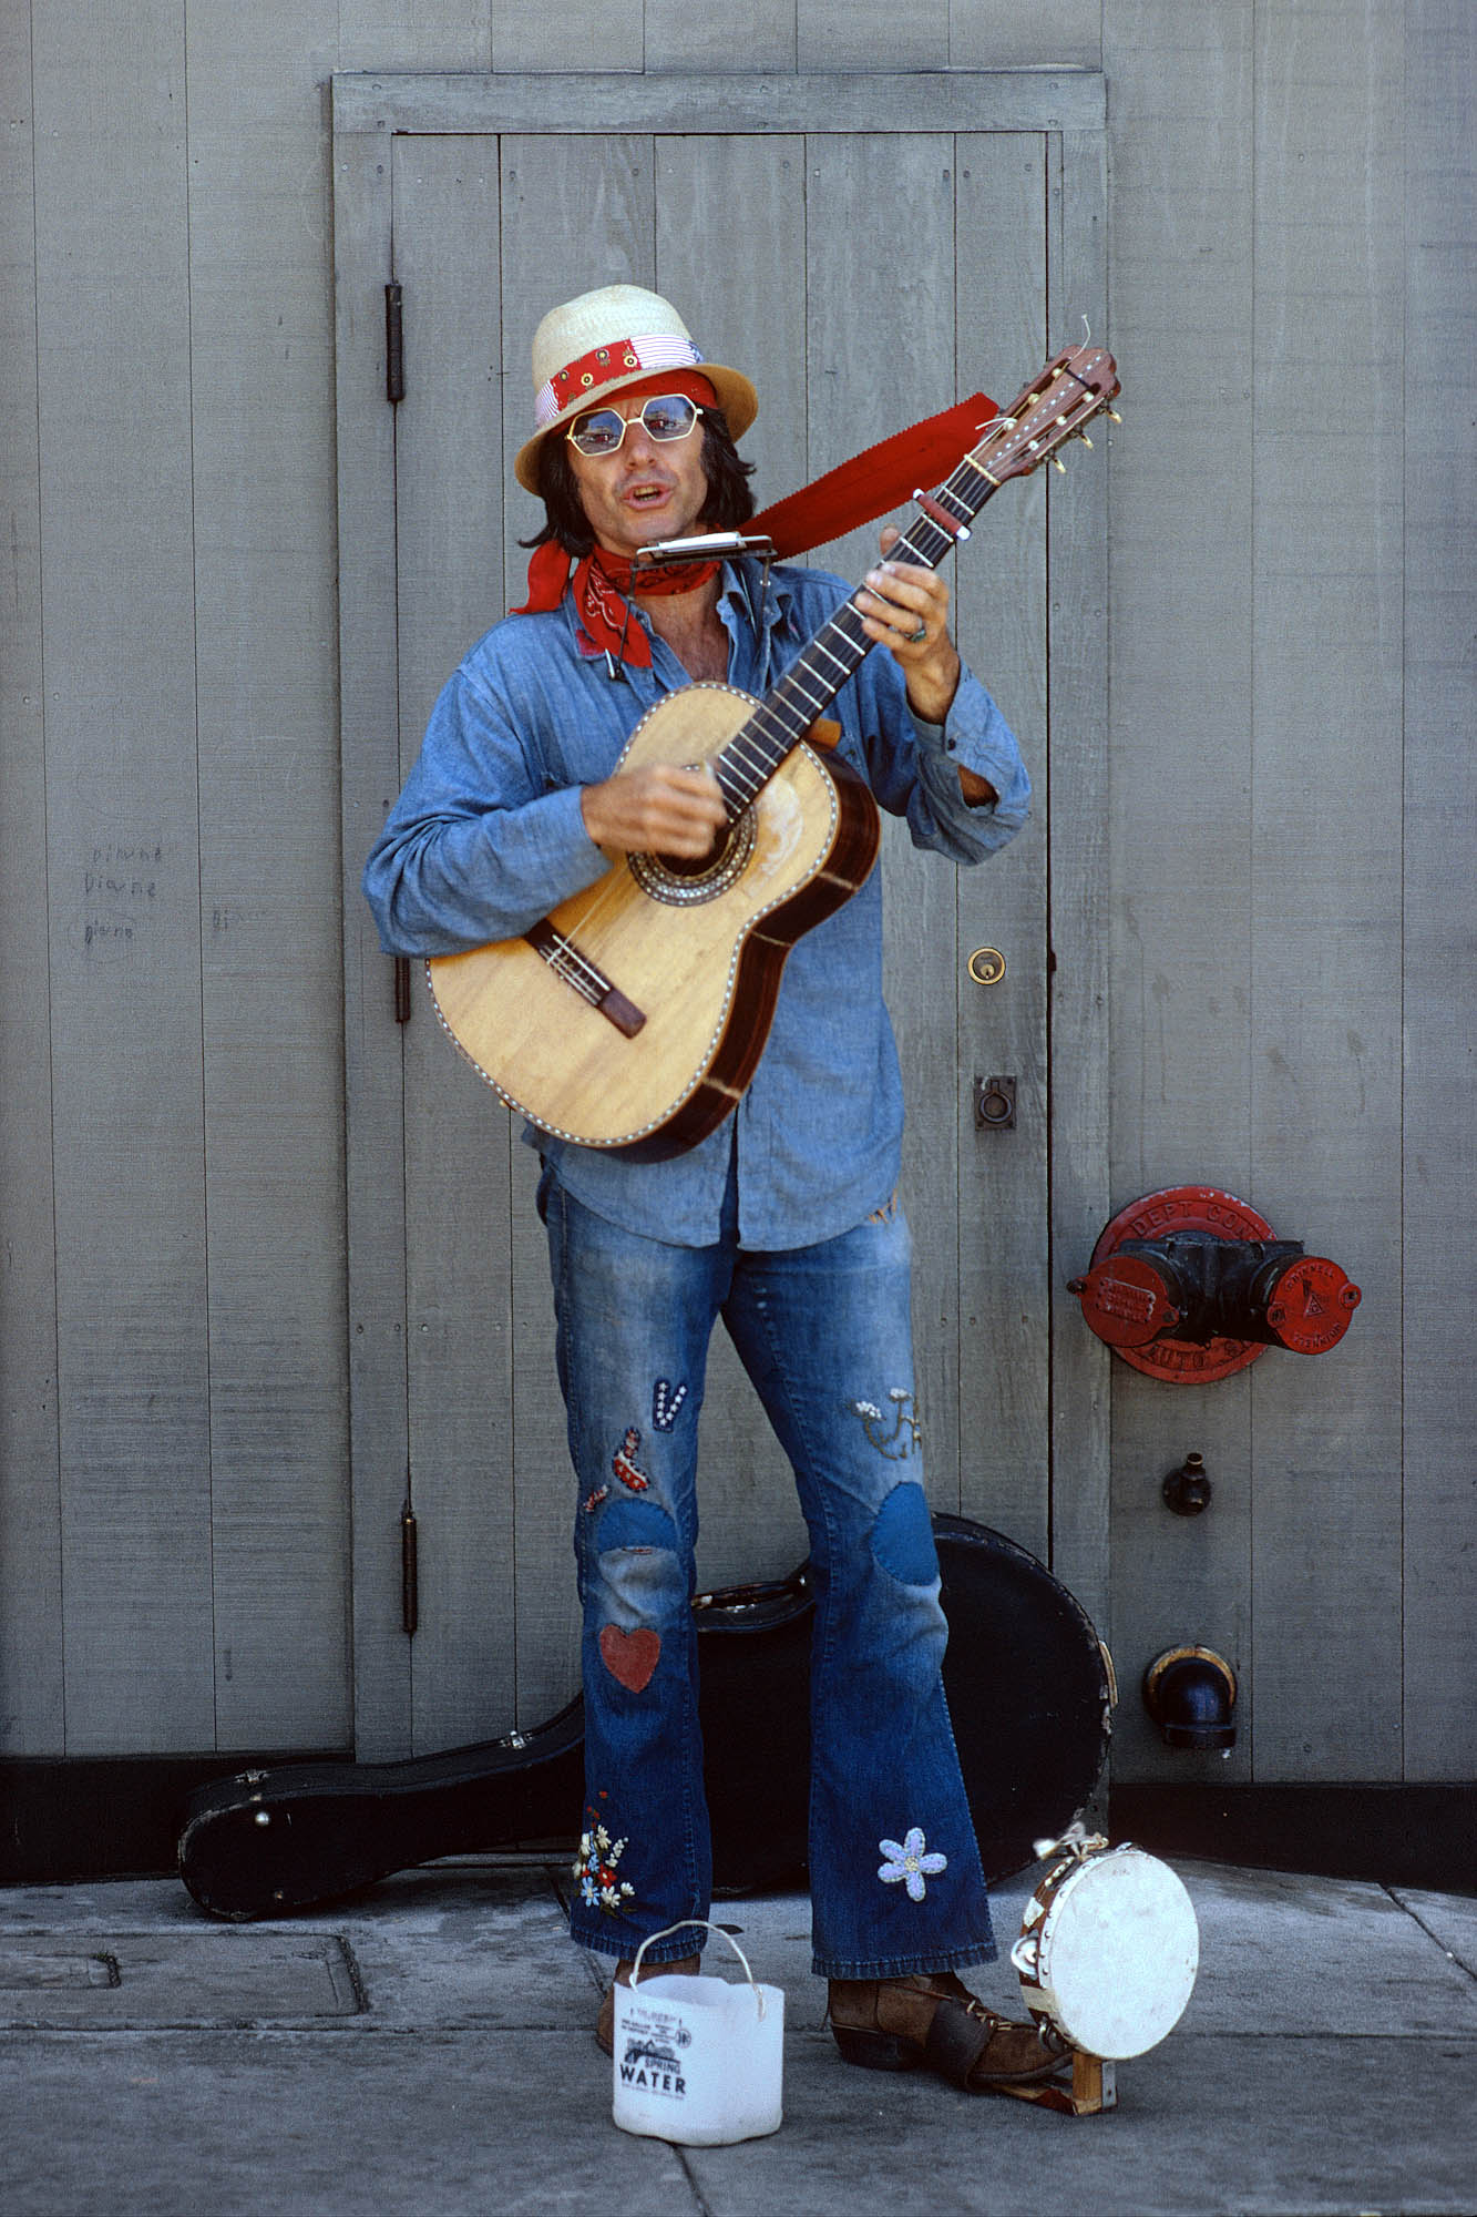
<svg viewBox="0 0 1477 2217">
<path fill-rule="evenodd" d="M 687 1918 L 707 1924 L 705 1918 Z M 732 1933 L 747 1986 L 723 1978 L 656 1971 L 641 1978 L 636 1949 L 630 1986 L 614 1989 L 614 2104 L 623 2133 L 676 2139 L 687 2148 L 721 2148 L 732 2139 L 778 2133 L 783 2108 L 785 1995 L 758 1986 Z M 707 1924 L 707 1931 L 721 1931 Z"/>
</svg>

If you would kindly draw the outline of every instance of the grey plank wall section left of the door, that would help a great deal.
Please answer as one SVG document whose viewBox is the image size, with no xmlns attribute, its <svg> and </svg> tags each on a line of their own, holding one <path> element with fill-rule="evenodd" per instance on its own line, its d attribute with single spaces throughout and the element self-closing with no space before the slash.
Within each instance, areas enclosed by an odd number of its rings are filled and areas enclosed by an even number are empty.
<svg viewBox="0 0 1477 2217">
<path fill-rule="evenodd" d="M 7 11 L 7 1751 L 350 1731 L 324 20 Z"/>
</svg>

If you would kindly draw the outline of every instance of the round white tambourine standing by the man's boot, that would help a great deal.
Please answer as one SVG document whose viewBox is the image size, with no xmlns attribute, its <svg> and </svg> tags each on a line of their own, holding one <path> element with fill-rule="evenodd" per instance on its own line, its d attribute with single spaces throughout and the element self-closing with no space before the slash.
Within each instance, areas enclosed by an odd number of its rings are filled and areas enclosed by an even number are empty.
<svg viewBox="0 0 1477 2217">
<path fill-rule="evenodd" d="M 1036 1887 L 1011 1964 L 1031 2017 L 1084 2055 L 1142 2055 L 1173 2031 L 1195 1989 L 1200 1927 L 1191 1898 L 1142 1847 L 1073 1827 Z"/>
</svg>

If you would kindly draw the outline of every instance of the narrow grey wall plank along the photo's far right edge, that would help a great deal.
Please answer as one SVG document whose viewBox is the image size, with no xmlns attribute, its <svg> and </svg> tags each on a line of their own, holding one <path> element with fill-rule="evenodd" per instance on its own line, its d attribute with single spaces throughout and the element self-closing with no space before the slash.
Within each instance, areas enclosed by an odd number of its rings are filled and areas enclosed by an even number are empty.
<svg viewBox="0 0 1477 2217">
<path fill-rule="evenodd" d="M 1470 1778 L 1477 1705 L 1457 1663 L 1473 1641 L 1477 1499 L 1470 1319 L 1477 1264 L 1473 1040 L 1477 723 L 1473 532 L 1477 395 L 1477 22 L 1461 0 L 1406 7 L 1406 1778 Z"/>
</svg>

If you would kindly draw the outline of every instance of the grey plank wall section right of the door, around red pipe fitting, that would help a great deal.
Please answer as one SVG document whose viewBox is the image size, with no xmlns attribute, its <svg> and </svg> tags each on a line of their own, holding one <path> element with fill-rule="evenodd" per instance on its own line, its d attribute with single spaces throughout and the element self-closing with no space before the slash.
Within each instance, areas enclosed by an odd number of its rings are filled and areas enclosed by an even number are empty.
<svg viewBox="0 0 1477 2217">
<path fill-rule="evenodd" d="M 1116 1366 L 1116 1774 L 1470 1778 L 1470 672 L 1444 645 L 1470 632 L 1470 31 L 1116 0 L 1104 69 L 1133 364 L 1113 1206 L 1222 1184 L 1364 1286 L 1320 1361 L 1173 1390 Z M 1182 1523 L 1160 1481 L 1186 1450 L 1215 1503 Z M 1180 1641 L 1246 1683 L 1224 1763 L 1160 1747 L 1135 1700 Z"/>
</svg>

